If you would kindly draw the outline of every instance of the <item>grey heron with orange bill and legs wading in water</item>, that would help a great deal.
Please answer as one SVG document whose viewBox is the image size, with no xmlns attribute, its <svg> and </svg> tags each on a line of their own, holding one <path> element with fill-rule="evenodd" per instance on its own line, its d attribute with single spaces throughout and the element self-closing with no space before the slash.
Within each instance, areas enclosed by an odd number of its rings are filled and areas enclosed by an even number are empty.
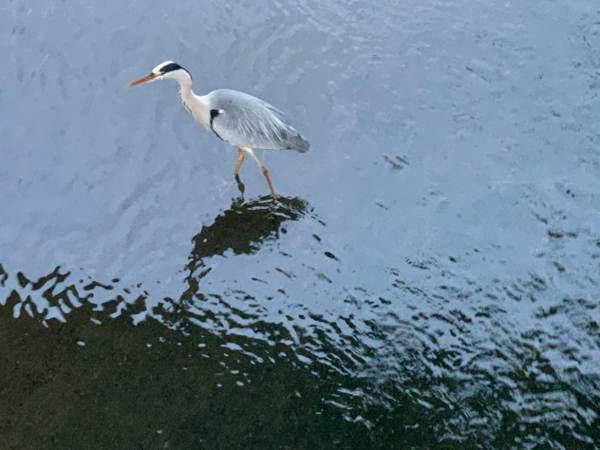
<svg viewBox="0 0 600 450">
<path fill-rule="evenodd" d="M 238 172 L 246 152 L 260 167 L 273 199 L 277 199 L 269 172 L 252 149 L 296 150 L 301 153 L 310 149 L 308 141 L 284 121 L 282 112 L 256 97 L 231 89 L 218 89 L 206 95 L 196 95 L 192 91 L 190 73 L 173 61 L 159 64 L 148 75 L 126 87 L 167 78 L 179 83 L 181 101 L 200 125 L 215 133 L 219 139 L 238 148 L 237 164 L 233 172 L 238 184 Z"/>
</svg>

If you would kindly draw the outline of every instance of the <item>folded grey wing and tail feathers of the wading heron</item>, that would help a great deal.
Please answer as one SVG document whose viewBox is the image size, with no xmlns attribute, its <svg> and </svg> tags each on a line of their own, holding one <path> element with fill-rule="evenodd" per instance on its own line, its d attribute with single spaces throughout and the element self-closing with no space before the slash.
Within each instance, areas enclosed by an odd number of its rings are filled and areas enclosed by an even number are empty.
<svg viewBox="0 0 600 450">
<path fill-rule="evenodd" d="M 277 108 L 251 95 L 219 89 L 209 95 L 211 127 L 232 145 L 306 152 L 310 144 L 283 120 Z"/>
</svg>

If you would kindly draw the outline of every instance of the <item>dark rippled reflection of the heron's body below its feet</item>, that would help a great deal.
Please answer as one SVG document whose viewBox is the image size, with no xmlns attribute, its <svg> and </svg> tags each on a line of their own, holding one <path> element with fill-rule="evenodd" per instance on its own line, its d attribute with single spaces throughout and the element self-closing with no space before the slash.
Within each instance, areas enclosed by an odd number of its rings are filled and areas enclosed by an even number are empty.
<svg viewBox="0 0 600 450">
<path fill-rule="evenodd" d="M 275 203 L 271 196 L 249 202 L 241 197 L 235 199 L 228 210 L 194 236 L 194 249 L 187 267 L 193 274 L 204 258 L 223 255 L 226 251 L 235 255 L 255 253 L 265 241 L 275 240 L 286 232 L 282 227 L 284 222 L 299 220 L 308 208 L 306 201 L 296 197 L 279 197 Z"/>
</svg>

